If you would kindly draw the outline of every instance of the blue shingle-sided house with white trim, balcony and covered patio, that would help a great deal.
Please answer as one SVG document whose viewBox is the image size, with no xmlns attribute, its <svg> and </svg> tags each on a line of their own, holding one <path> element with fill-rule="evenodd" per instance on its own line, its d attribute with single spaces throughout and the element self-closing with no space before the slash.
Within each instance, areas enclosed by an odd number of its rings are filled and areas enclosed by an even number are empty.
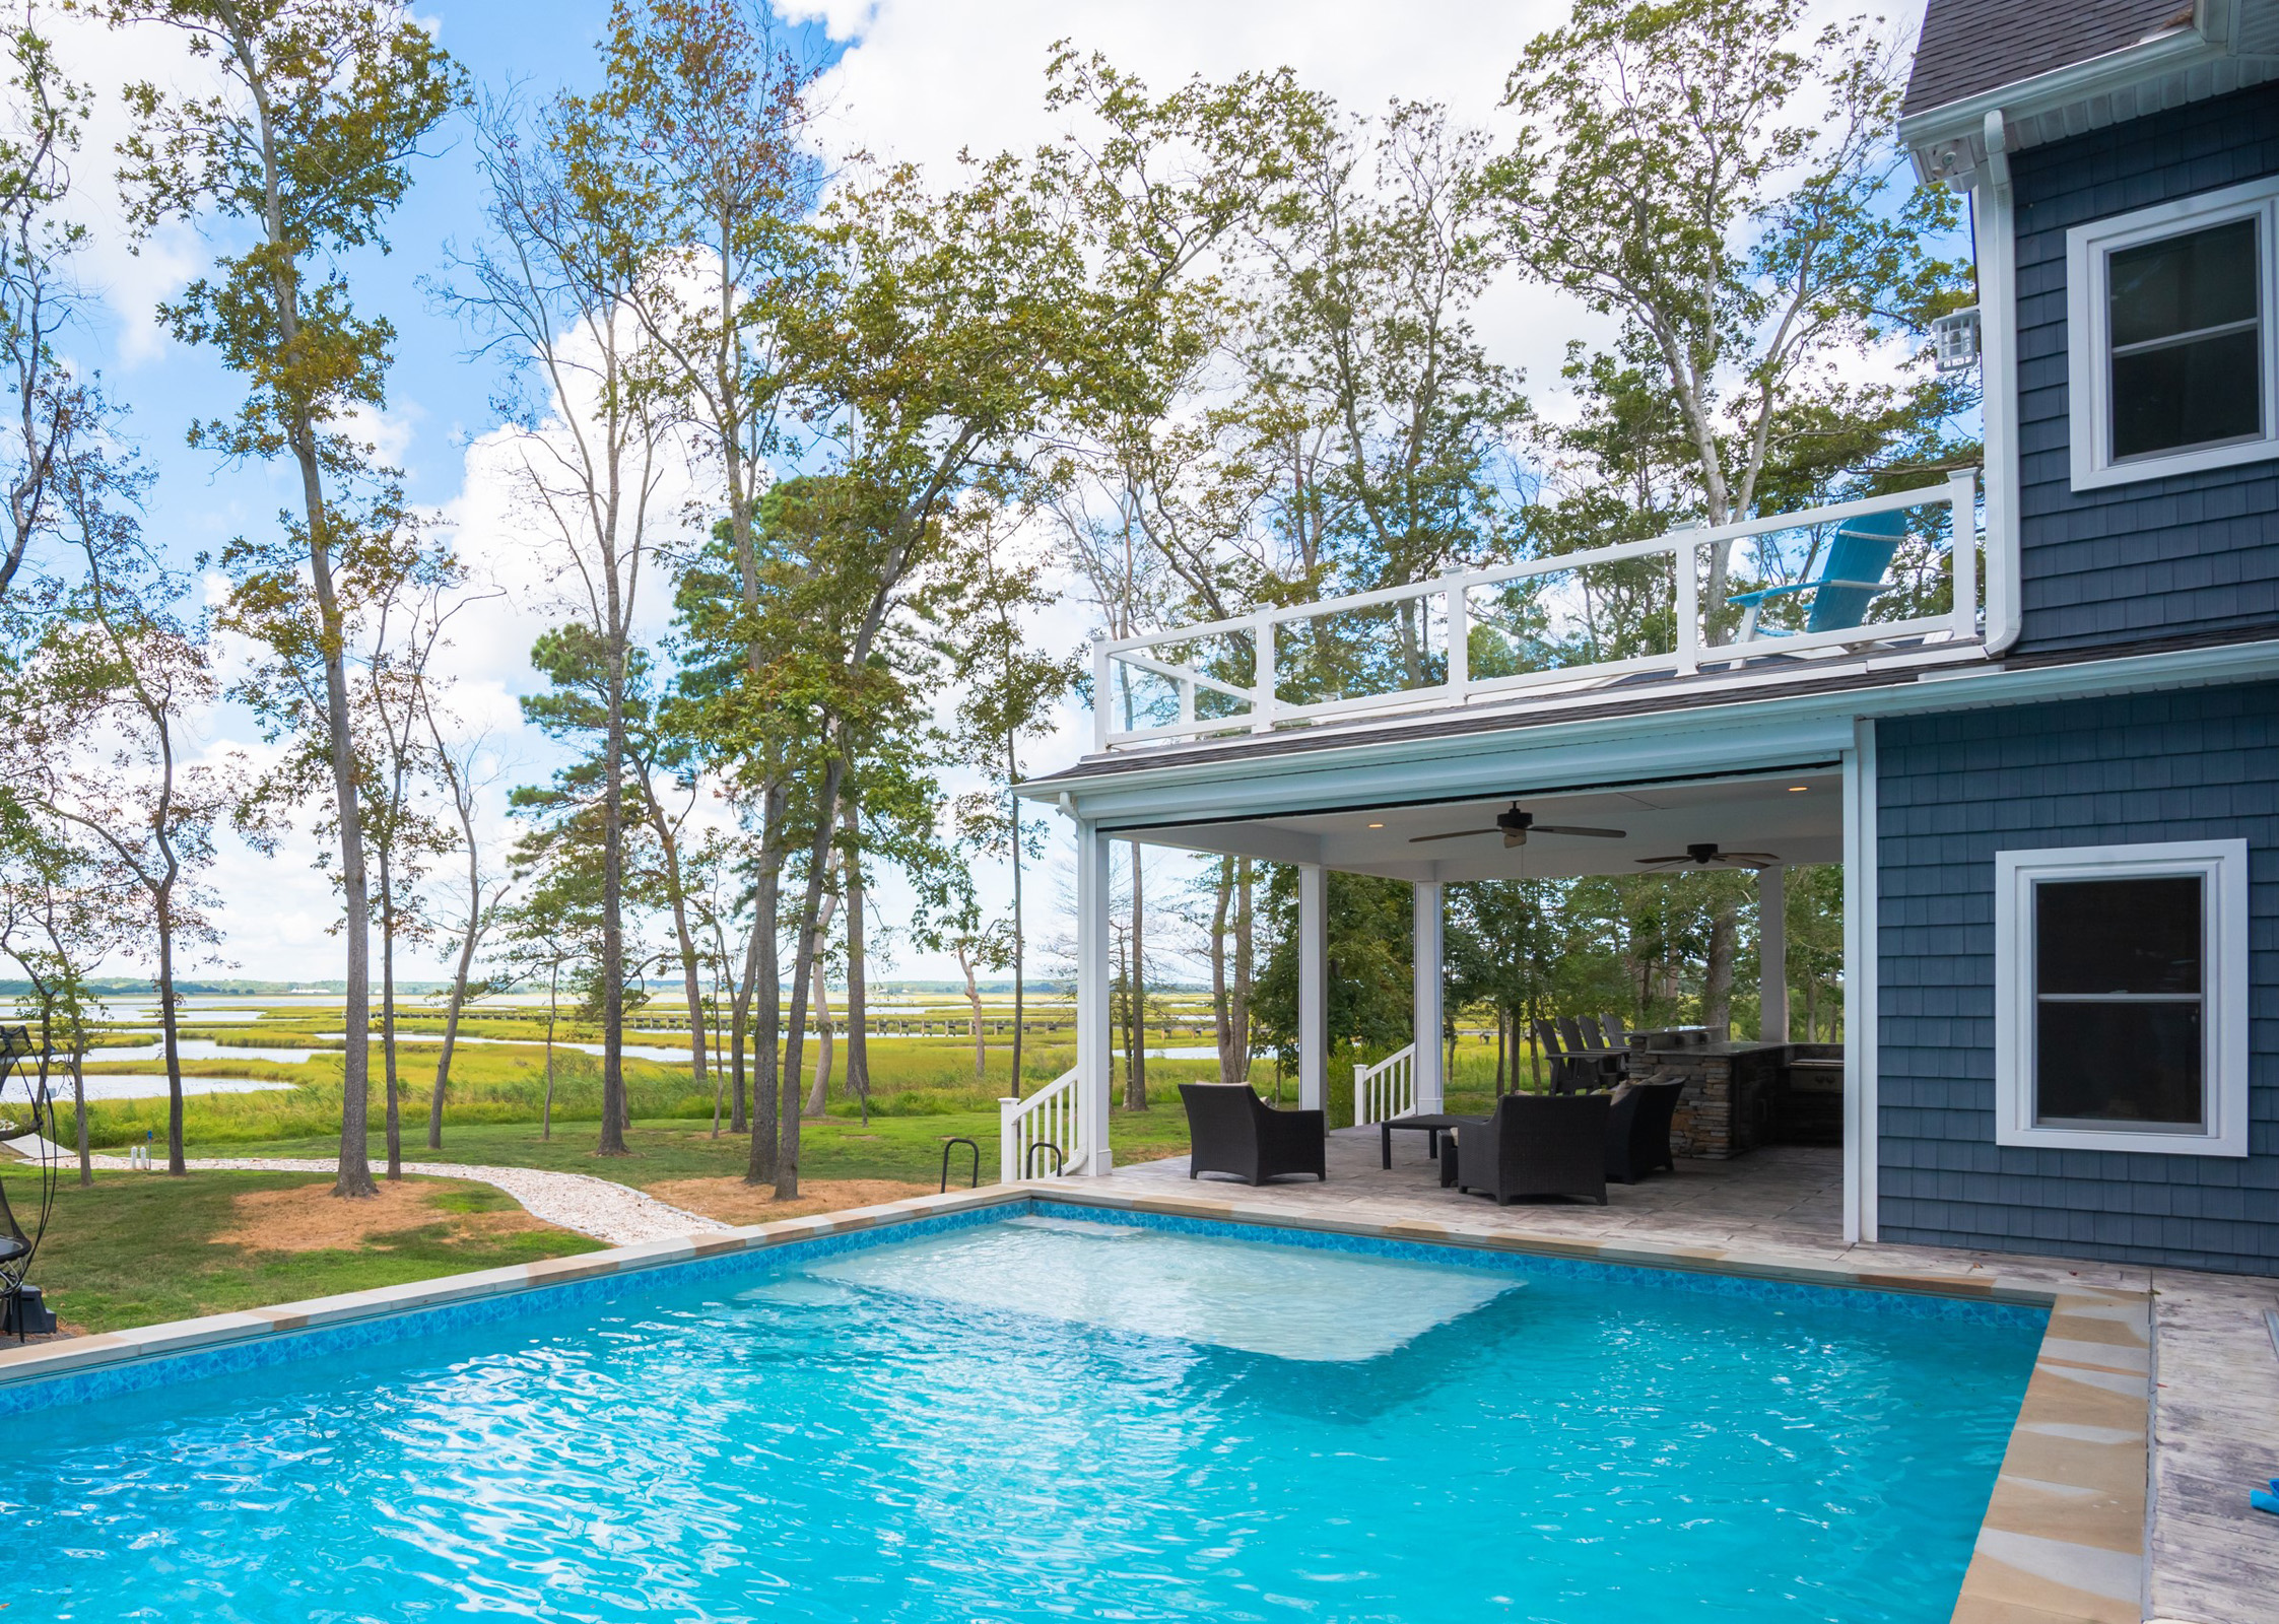
<svg viewBox="0 0 2279 1624">
<path fill-rule="evenodd" d="M 1363 1118 L 1440 1100 L 1445 884 L 1762 852 L 1769 920 L 1844 863 L 1848 1239 L 2279 1273 L 2279 2 L 1930 0 L 1901 139 L 1971 203 L 1983 481 L 1098 645 L 1094 749 L 1023 790 L 1076 827 L 1078 1068 L 1007 1146 L 1108 1171 L 1114 840 L 1299 868 L 1308 1102 L 1326 875 L 1413 886 L 1427 1041 Z M 1933 592 L 1702 601 L 1839 535 Z M 1543 635 L 1616 567 L 1671 572 L 1668 647 Z M 1292 686 L 1324 638 L 1404 658 Z"/>
</svg>

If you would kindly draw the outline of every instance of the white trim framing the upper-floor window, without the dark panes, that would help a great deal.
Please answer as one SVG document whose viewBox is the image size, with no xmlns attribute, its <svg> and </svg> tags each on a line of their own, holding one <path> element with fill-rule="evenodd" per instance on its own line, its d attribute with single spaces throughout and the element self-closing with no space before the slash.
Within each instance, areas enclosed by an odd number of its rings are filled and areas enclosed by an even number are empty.
<svg viewBox="0 0 2279 1624">
<path fill-rule="evenodd" d="M 2197 446 L 2115 462 L 2110 369 L 2106 355 L 2106 262 L 2119 248 L 2179 237 L 2204 225 L 2254 219 L 2256 271 L 2263 278 L 2263 433 L 2222 446 Z M 2222 191 L 2202 191 L 2133 214 L 2074 225 L 2065 232 L 2065 333 L 2069 348 L 2067 405 L 2072 412 L 2074 490 L 2129 485 L 2211 467 L 2279 458 L 2279 175 Z"/>
</svg>

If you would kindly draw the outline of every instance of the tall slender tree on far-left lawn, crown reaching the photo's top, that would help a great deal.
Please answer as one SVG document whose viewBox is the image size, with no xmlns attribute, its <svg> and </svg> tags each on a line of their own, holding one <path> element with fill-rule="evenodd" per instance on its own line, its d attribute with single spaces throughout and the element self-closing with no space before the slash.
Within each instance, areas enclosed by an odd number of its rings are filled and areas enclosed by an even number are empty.
<svg viewBox="0 0 2279 1624">
<path fill-rule="evenodd" d="M 235 417 L 201 421 L 191 444 L 230 458 L 289 458 L 299 512 L 276 538 L 239 538 L 228 620 L 264 642 L 287 681 L 283 706 L 303 708 L 330 765 L 333 822 L 346 888 L 346 1057 L 335 1194 L 374 1196 L 365 1150 L 369 1089 L 371 941 L 360 763 L 346 647 L 358 604 L 344 567 L 374 538 L 392 492 L 356 437 L 353 417 L 387 403 L 394 328 L 358 317 L 349 255 L 385 248 L 383 225 L 410 184 L 419 141 L 460 98 L 456 66 L 401 5 L 383 0 L 98 0 L 109 20 L 164 23 L 212 66 L 212 93 L 134 84 L 134 132 L 121 182 L 137 237 L 169 219 L 226 223 L 251 244 L 223 251 L 214 273 L 160 310 L 187 344 L 212 344 L 246 378 Z M 358 503 L 353 492 L 367 490 Z M 378 512 L 376 512 L 378 510 Z"/>
</svg>

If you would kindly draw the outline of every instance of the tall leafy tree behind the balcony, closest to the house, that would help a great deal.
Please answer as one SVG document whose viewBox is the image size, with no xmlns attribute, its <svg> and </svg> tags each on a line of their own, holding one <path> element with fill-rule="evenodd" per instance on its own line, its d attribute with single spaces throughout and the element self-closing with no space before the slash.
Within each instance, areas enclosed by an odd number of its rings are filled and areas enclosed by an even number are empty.
<svg viewBox="0 0 2279 1624">
<path fill-rule="evenodd" d="M 1803 0 L 1582 0 L 1504 91 L 1522 128 L 1490 184 L 1513 264 L 1623 323 L 1709 524 L 1757 512 L 1766 469 L 1837 426 L 1955 403 L 1935 380 L 1848 383 L 1962 301 L 1967 266 L 1937 251 L 1951 191 L 1894 198 L 1896 41 L 1864 20 L 1803 27 Z M 1727 574 L 1716 549 L 1712 640 Z"/>
</svg>

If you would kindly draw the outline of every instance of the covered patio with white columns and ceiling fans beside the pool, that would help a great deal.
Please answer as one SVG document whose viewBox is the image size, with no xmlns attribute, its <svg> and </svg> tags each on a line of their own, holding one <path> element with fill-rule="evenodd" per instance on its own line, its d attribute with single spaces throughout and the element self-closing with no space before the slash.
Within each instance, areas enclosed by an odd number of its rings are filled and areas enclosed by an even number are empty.
<svg viewBox="0 0 2279 1624">
<path fill-rule="evenodd" d="M 1272 763 L 1274 770 L 1288 765 L 1292 763 Z M 1680 1171 L 1657 1173 L 1639 1184 L 1616 1184 L 1600 1219 L 1575 1221 L 1600 1228 L 1623 1221 L 1623 1214 L 1666 1216 L 1693 1209 L 1712 1225 L 1730 1219 L 1773 1223 L 1798 1235 L 1857 1239 L 1853 1228 L 1857 1205 L 1846 1203 L 1848 1180 L 1860 1180 L 1855 1150 L 1862 1143 L 1857 1045 L 1848 1043 L 1857 1030 L 1857 1011 L 1846 1009 L 1844 1048 L 1791 1045 L 1784 973 L 1787 870 L 1798 863 L 1844 861 L 1855 829 L 1855 820 L 1846 818 L 1855 772 L 1844 752 L 1782 770 L 1689 772 L 1568 788 L 1525 788 L 1520 779 L 1493 795 L 1433 795 L 1429 777 L 1413 774 L 1411 797 L 1354 797 L 1329 806 L 1290 806 L 1301 793 L 1320 797 L 1324 790 L 1335 790 L 1313 772 L 1294 774 L 1299 784 L 1276 784 L 1274 770 L 1256 788 L 1281 790 L 1281 809 L 1269 804 L 1237 815 L 1078 822 L 1078 1066 L 1064 1080 L 1064 1089 L 1055 1084 L 1064 1098 L 1035 1096 L 1023 1102 L 1019 1121 L 1007 1123 L 1014 1157 L 1026 1159 L 1023 1146 L 1035 1141 L 1057 1148 L 1073 1143 L 1071 1171 L 1110 1171 L 1105 1123 L 1112 1068 L 1103 1039 L 1110 989 L 1110 854 L 1117 843 L 1251 856 L 1297 870 L 1297 1102 L 1326 1109 L 1338 1098 L 1324 1200 L 1365 1200 L 1379 1189 L 1422 1191 L 1436 1184 L 1424 1134 L 1395 1134 L 1399 1143 L 1395 1166 L 1388 1171 L 1379 1164 L 1379 1132 L 1372 1123 L 1452 1109 L 1443 1075 L 1449 1055 L 1443 1034 L 1452 1014 L 1443 952 L 1447 886 L 1486 879 L 1727 870 L 1748 875 L 1757 893 L 1757 904 L 1743 909 L 1741 920 L 1743 932 L 1757 936 L 1764 966 L 1757 1030 L 1629 1034 L 1623 1043 L 1627 1050 L 1623 1064 L 1634 1077 L 1686 1084 L 1675 1134 Z M 1411 1041 L 1367 1066 L 1356 1064 L 1356 1055 L 1329 1032 L 1333 872 L 1402 881 L 1413 897 L 1411 1034 L 1424 1041 Z M 1846 922 L 1846 936 L 1853 938 L 1851 909 Z M 1846 986 L 1855 989 L 1857 977 L 1848 975 Z M 1725 1041 L 1734 1036 L 1739 1041 Z M 1812 1093 L 1796 1098 L 1798 1112 L 1814 1116 L 1812 1134 L 1784 1132 L 1782 1125 L 1791 1061 L 1810 1068 L 1810 1077 L 1798 1086 Z M 1347 1068 L 1351 1107 L 1342 1098 Z M 1803 1071 L 1796 1075 L 1803 1077 Z M 1484 1107 L 1475 1100 L 1454 1109 Z M 1140 1175 L 1171 1173 L 1174 1168 L 1146 1168 Z M 1176 1173 L 1183 1178 L 1185 1168 Z M 1431 1194 L 1440 1196 L 1438 1189 Z M 1447 1191 L 1447 1198 L 1461 1200 L 1454 1191 Z"/>
</svg>

